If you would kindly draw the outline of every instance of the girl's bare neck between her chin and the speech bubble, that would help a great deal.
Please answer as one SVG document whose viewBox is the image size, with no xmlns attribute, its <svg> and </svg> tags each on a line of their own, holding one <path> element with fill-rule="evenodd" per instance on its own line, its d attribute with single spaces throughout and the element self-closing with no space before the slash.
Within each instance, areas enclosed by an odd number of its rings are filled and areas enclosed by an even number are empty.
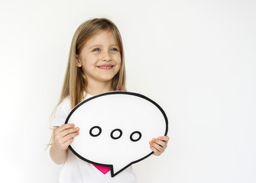
<svg viewBox="0 0 256 183">
<path fill-rule="evenodd" d="M 90 82 L 87 86 L 87 92 L 90 95 L 99 95 L 105 92 L 111 92 L 112 90 L 112 82 Z"/>
</svg>

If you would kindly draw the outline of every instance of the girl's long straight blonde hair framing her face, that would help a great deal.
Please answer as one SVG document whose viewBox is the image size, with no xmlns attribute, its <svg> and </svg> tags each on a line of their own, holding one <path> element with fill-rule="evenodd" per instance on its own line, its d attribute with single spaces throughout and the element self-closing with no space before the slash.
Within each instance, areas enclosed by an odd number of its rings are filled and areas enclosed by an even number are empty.
<svg viewBox="0 0 256 183">
<path fill-rule="evenodd" d="M 121 67 L 118 73 L 112 79 L 112 88 L 117 91 L 126 91 L 125 56 L 122 46 L 122 37 L 119 33 L 118 27 L 116 27 L 115 24 L 109 19 L 94 18 L 81 24 L 73 35 L 63 88 L 58 104 L 60 104 L 64 98 L 70 97 L 71 108 L 74 108 L 76 104 L 83 100 L 84 93 L 87 92 L 86 87 L 88 82 L 83 69 L 76 66 L 76 56 L 81 53 L 86 41 L 97 34 L 100 30 L 112 31 L 112 34 L 118 43 L 118 49 L 121 53 Z"/>
</svg>

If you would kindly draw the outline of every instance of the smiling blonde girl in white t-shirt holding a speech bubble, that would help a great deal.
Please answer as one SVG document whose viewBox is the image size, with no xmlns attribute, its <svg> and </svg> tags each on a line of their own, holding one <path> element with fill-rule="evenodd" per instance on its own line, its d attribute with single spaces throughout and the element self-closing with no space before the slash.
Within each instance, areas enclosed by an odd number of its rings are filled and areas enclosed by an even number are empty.
<svg viewBox="0 0 256 183">
<path fill-rule="evenodd" d="M 115 90 L 126 90 L 121 35 L 108 19 L 86 21 L 73 36 L 63 89 L 52 121 L 55 128 L 50 157 L 53 162 L 63 164 L 61 183 L 137 182 L 131 167 L 112 178 L 109 167 L 84 162 L 68 149 L 74 137 L 79 135 L 79 127 L 75 124 L 64 124 L 72 108 L 92 95 Z M 160 136 L 149 142 L 154 155 L 164 152 L 168 140 L 168 136 Z"/>
</svg>

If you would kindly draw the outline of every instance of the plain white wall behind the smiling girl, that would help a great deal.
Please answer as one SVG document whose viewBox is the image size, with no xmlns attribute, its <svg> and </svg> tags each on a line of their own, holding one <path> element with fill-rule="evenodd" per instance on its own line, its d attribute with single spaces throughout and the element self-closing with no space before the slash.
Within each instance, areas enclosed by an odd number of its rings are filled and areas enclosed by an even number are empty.
<svg viewBox="0 0 256 183">
<path fill-rule="evenodd" d="M 1 182 L 57 182 L 49 116 L 76 27 L 106 17 L 125 45 L 128 89 L 170 120 L 141 182 L 256 181 L 255 1 L 1 1 Z"/>
</svg>

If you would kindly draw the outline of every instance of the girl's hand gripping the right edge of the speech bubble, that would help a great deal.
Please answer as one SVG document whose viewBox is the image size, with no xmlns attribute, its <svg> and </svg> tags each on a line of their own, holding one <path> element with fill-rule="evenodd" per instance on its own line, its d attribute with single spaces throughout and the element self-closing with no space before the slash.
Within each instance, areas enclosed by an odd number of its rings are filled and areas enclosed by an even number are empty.
<svg viewBox="0 0 256 183">
<path fill-rule="evenodd" d="M 169 139 L 169 136 L 159 136 L 157 139 L 154 138 L 149 142 L 155 156 L 160 156 L 164 152 Z"/>
</svg>

